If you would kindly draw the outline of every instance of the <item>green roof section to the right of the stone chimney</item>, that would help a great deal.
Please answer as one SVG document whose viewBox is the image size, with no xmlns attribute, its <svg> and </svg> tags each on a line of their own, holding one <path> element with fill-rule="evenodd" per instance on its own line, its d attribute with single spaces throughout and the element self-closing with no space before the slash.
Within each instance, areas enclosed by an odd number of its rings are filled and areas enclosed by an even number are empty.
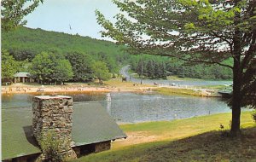
<svg viewBox="0 0 256 162">
<path fill-rule="evenodd" d="M 126 137 L 99 103 L 77 103 L 73 107 L 72 139 L 76 146 Z"/>
</svg>

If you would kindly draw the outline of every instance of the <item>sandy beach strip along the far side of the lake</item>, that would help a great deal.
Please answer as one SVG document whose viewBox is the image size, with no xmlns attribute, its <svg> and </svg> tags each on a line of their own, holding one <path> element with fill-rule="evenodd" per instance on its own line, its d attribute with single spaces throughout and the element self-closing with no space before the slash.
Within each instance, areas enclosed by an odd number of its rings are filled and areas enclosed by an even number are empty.
<svg viewBox="0 0 256 162">
<path fill-rule="evenodd" d="M 41 85 L 41 84 L 12 84 L 1 87 L 2 95 L 13 94 L 47 94 L 57 95 L 63 93 L 108 93 L 108 92 L 141 92 L 141 93 L 160 93 L 162 95 L 194 95 L 199 97 L 219 97 L 216 92 L 207 92 L 200 90 L 189 90 L 177 87 L 159 87 L 149 84 L 134 84 L 131 82 L 120 82 L 118 80 L 110 80 L 105 84 L 64 84 L 64 85 Z"/>
</svg>

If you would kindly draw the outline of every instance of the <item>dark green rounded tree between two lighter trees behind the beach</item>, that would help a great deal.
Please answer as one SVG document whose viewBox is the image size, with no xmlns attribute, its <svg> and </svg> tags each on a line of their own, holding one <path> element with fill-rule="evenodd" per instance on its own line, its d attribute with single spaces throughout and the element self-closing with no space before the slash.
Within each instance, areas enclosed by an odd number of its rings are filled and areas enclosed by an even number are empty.
<svg viewBox="0 0 256 162">
<path fill-rule="evenodd" d="M 78 52 L 68 53 L 67 60 L 70 61 L 73 68 L 74 81 L 87 81 L 93 77 L 93 59 L 90 55 Z"/>
</svg>

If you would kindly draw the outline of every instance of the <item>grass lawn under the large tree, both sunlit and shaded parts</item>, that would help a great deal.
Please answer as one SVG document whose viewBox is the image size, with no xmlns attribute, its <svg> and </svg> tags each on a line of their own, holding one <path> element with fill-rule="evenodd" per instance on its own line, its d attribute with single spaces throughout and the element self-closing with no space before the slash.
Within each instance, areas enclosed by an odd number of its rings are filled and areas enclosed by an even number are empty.
<svg viewBox="0 0 256 162">
<path fill-rule="evenodd" d="M 256 161 L 256 124 L 251 112 L 241 114 L 242 135 L 231 138 L 230 113 L 191 119 L 122 124 L 126 140 L 76 161 Z M 224 125 L 224 130 L 219 129 Z"/>
</svg>

